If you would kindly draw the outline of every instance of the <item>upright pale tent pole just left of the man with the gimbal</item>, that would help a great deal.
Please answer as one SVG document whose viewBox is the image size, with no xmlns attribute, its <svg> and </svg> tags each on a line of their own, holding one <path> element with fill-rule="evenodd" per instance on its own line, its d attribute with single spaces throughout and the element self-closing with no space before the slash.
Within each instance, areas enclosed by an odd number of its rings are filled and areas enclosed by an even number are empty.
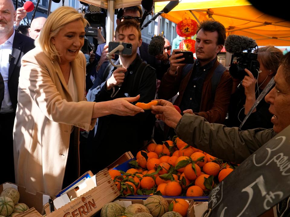
<svg viewBox="0 0 290 217">
<path fill-rule="evenodd" d="M 114 18 L 115 18 L 115 0 L 108 0 L 107 25 L 106 25 L 106 44 L 114 40 Z"/>
</svg>

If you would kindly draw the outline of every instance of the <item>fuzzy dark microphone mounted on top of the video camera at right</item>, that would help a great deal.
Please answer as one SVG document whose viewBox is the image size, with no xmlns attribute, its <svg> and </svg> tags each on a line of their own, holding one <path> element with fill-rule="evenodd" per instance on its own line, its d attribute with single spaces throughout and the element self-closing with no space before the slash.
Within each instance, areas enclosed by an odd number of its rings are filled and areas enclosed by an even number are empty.
<svg viewBox="0 0 290 217">
<path fill-rule="evenodd" d="M 247 49 L 253 49 L 257 46 L 254 39 L 247 36 L 229 35 L 227 36 L 224 47 L 229 53 L 243 52 Z"/>
</svg>

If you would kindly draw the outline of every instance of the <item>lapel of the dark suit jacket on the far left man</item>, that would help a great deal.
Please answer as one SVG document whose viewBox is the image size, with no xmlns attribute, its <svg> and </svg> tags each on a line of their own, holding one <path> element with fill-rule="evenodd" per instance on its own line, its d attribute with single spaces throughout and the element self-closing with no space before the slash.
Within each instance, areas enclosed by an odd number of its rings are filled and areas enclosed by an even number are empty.
<svg viewBox="0 0 290 217">
<path fill-rule="evenodd" d="M 18 34 L 15 32 L 14 39 L 13 39 L 13 45 L 12 45 L 12 53 L 11 53 L 11 61 L 9 65 L 9 71 L 8 71 L 8 80 L 10 79 L 14 68 L 17 66 L 18 62 L 20 61 L 21 56 L 21 50 L 22 50 L 22 40 L 19 40 Z"/>
</svg>

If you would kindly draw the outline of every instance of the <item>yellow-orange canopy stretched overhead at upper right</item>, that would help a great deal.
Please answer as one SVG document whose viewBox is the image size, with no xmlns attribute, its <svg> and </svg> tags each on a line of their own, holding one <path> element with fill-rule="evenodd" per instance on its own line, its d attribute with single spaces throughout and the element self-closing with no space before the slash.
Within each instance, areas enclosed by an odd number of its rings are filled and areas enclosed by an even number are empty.
<svg viewBox="0 0 290 217">
<path fill-rule="evenodd" d="M 155 12 L 167 4 L 155 2 Z M 227 35 L 251 37 L 258 46 L 290 46 L 290 21 L 264 14 L 246 0 L 182 0 L 161 16 L 176 24 L 185 17 L 200 22 L 211 17 L 225 26 Z"/>
</svg>

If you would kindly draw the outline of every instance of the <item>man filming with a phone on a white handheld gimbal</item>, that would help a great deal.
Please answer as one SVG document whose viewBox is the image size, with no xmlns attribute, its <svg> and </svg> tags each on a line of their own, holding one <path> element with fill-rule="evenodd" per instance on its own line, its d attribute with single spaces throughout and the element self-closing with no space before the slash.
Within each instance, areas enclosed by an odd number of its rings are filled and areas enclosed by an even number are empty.
<svg viewBox="0 0 290 217">
<path fill-rule="evenodd" d="M 119 55 L 115 64 L 122 64 L 121 68 L 101 66 L 92 87 L 96 87 L 97 90 L 95 102 L 136 95 L 140 95 L 139 102 L 150 102 L 156 94 L 156 72 L 137 54 L 137 49 L 142 43 L 139 24 L 132 19 L 120 22 L 116 28 L 116 41 L 132 44 L 132 54 Z M 128 49 L 126 45 L 125 49 Z M 92 164 L 94 167 L 89 169 L 97 172 L 126 151 L 136 154 L 147 140 L 151 139 L 154 121 L 155 117 L 149 110 L 132 117 L 108 115 L 98 118 L 96 131 L 91 131 L 89 135 L 89 140 L 94 136 L 92 142 L 89 142 L 93 149 L 92 153 L 110 153 L 110 155 L 97 164 L 94 162 Z"/>
</svg>

